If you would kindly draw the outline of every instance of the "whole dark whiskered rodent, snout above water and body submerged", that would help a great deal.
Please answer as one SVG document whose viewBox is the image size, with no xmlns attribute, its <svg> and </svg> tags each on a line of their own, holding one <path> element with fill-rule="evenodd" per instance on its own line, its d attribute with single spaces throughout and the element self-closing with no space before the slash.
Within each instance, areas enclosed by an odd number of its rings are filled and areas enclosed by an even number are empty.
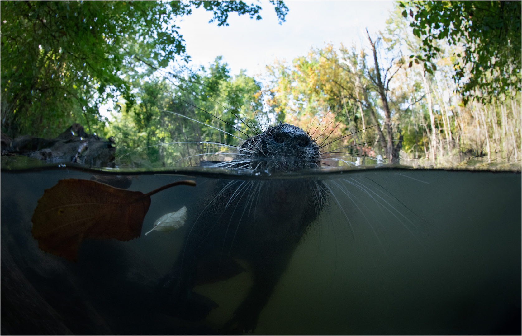
<svg viewBox="0 0 522 336">
<path fill-rule="evenodd" d="M 279 123 L 247 138 L 227 167 L 292 172 L 320 167 L 320 159 L 320 148 L 310 134 Z M 194 286 L 202 277 L 211 282 L 238 274 L 243 269 L 234 259 L 241 259 L 250 266 L 254 283 L 223 328 L 255 329 L 296 246 L 324 208 L 326 194 L 322 181 L 302 178 L 218 180 L 194 211 L 182 252 L 161 282 L 164 309 L 183 319 L 205 318 L 217 304 L 193 292 Z"/>
</svg>

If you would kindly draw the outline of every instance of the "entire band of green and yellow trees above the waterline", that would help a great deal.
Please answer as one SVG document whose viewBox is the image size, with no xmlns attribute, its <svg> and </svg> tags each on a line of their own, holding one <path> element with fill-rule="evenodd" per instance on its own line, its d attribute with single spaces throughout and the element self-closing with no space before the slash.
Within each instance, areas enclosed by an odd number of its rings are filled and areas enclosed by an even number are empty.
<svg viewBox="0 0 522 336">
<path fill-rule="evenodd" d="M 271 3 L 284 21 L 284 3 Z M 183 65 L 174 24 L 201 5 L 218 25 L 233 12 L 259 19 L 257 5 L 27 4 L 2 2 L 2 131 L 11 137 L 52 137 L 78 122 L 114 136 L 121 162 L 197 164 L 226 160 L 226 144 L 286 121 L 340 161 L 520 162 L 520 2 L 397 2 L 362 46 L 314 46 L 276 59 L 258 81 L 230 74 L 220 57 Z M 99 108 L 109 101 L 107 119 Z"/>
</svg>

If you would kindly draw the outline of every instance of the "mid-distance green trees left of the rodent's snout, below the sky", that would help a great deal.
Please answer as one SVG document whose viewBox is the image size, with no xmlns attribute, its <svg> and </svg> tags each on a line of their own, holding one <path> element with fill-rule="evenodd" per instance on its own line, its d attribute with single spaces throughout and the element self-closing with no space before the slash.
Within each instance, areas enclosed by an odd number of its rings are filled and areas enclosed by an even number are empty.
<svg viewBox="0 0 522 336">
<path fill-rule="evenodd" d="M 228 145 L 241 145 L 268 122 L 259 85 L 243 73 L 230 76 L 220 56 L 209 68 L 176 79 L 141 81 L 136 103 L 113 114 L 108 132 L 120 163 L 197 165 L 235 152 Z"/>
</svg>

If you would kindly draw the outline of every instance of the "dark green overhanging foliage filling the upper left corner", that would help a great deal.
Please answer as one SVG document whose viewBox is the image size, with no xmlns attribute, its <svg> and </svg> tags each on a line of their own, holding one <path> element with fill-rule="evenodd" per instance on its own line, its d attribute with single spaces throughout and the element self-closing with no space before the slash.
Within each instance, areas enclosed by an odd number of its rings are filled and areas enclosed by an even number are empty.
<svg viewBox="0 0 522 336">
<path fill-rule="evenodd" d="M 284 21 L 288 8 L 272 4 Z M 103 132 L 100 104 L 132 106 L 133 81 L 188 59 L 175 19 L 200 6 L 218 26 L 232 12 L 261 18 L 243 1 L 2 1 L 2 130 L 52 137 L 77 121 Z"/>
</svg>

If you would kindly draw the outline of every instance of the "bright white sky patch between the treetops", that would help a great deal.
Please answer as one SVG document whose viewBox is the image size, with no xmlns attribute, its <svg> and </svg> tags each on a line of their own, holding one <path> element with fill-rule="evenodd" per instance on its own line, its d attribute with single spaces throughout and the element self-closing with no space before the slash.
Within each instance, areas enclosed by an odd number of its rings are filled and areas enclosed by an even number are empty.
<svg viewBox="0 0 522 336">
<path fill-rule="evenodd" d="M 250 3 L 250 2 L 247 2 Z M 250 76 L 265 73 L 265 65 L 277 58 L 291 62 L 311 47 L 331 42 L 336 47 L 366 43 L 365 29 L 374 35 L 385 28 L 392 1 L 285 1 L 286 22 L 278 24 L 274 7 L 261 1 L 262 20 L 247 15 L 229 16 L 228 27 L 208 23 L 212 13 L 203 8 L 177 22 L 186 41 L 190 64 L 204 65 L 218 55 L 229 64 L 231 74 L 245 69 Z"/>
</svg>

